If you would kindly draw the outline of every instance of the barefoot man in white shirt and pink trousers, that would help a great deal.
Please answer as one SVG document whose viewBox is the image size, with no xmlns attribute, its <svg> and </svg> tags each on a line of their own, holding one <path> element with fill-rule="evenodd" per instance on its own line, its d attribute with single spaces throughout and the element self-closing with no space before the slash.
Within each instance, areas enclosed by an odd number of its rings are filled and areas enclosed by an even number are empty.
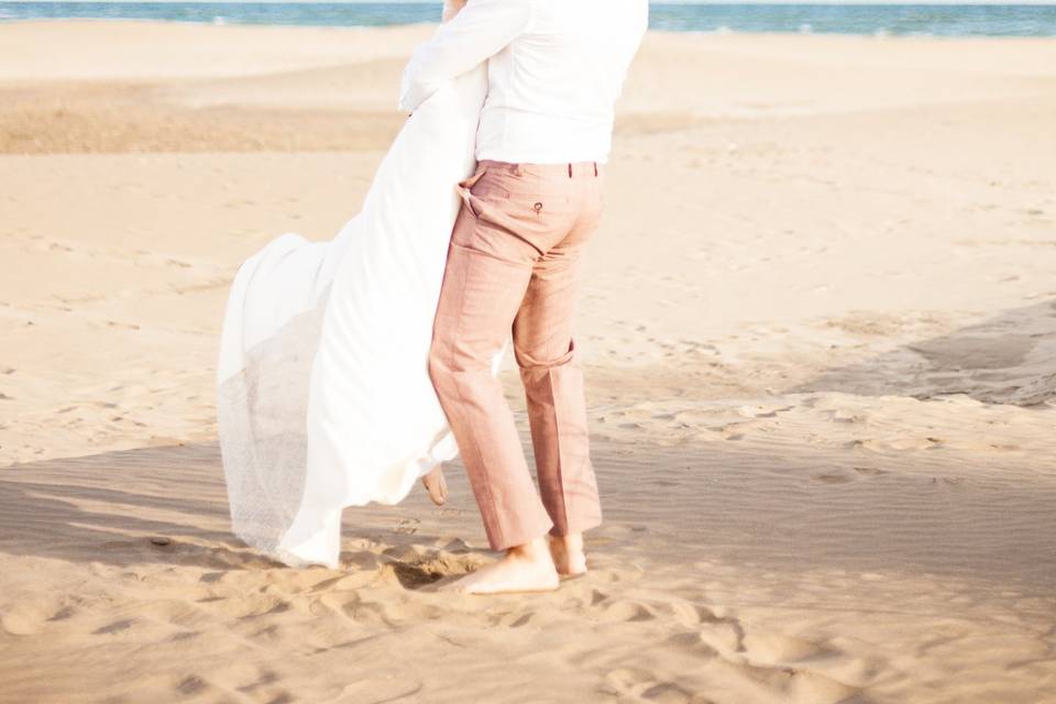
<svg viewBox="0 0 1056 704">
<path fill-rule="evenodd" d="M 613 107 L 647 21 L 647 0 L 469 0 L 404 76 L 400 106 L 415 110 L 487 61 L 477 167 L 460 184 L 429 372 L 488 542 L 505 556 L 455 582 L 460 592 L 548 591 L 586 571 L 582 534 L 602 512 L 573 298 L 601 217 Z M 539 493 L 491 372 L 510 333 Z"/>
</svg>

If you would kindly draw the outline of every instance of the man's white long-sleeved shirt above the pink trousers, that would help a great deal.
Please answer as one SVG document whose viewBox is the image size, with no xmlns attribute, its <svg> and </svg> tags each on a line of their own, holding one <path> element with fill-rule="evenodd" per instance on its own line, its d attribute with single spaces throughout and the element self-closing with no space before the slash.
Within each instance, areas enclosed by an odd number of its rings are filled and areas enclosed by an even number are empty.
<svg viewBox="0 0 1056 704">
<path fill-rule="evenodd" d="M 477 160 L 606 162 L 648 16 L 648 0 L 469 0 L 415 50 L 399 107 L 414 111 L 487 59 Z"/>
</svg>

